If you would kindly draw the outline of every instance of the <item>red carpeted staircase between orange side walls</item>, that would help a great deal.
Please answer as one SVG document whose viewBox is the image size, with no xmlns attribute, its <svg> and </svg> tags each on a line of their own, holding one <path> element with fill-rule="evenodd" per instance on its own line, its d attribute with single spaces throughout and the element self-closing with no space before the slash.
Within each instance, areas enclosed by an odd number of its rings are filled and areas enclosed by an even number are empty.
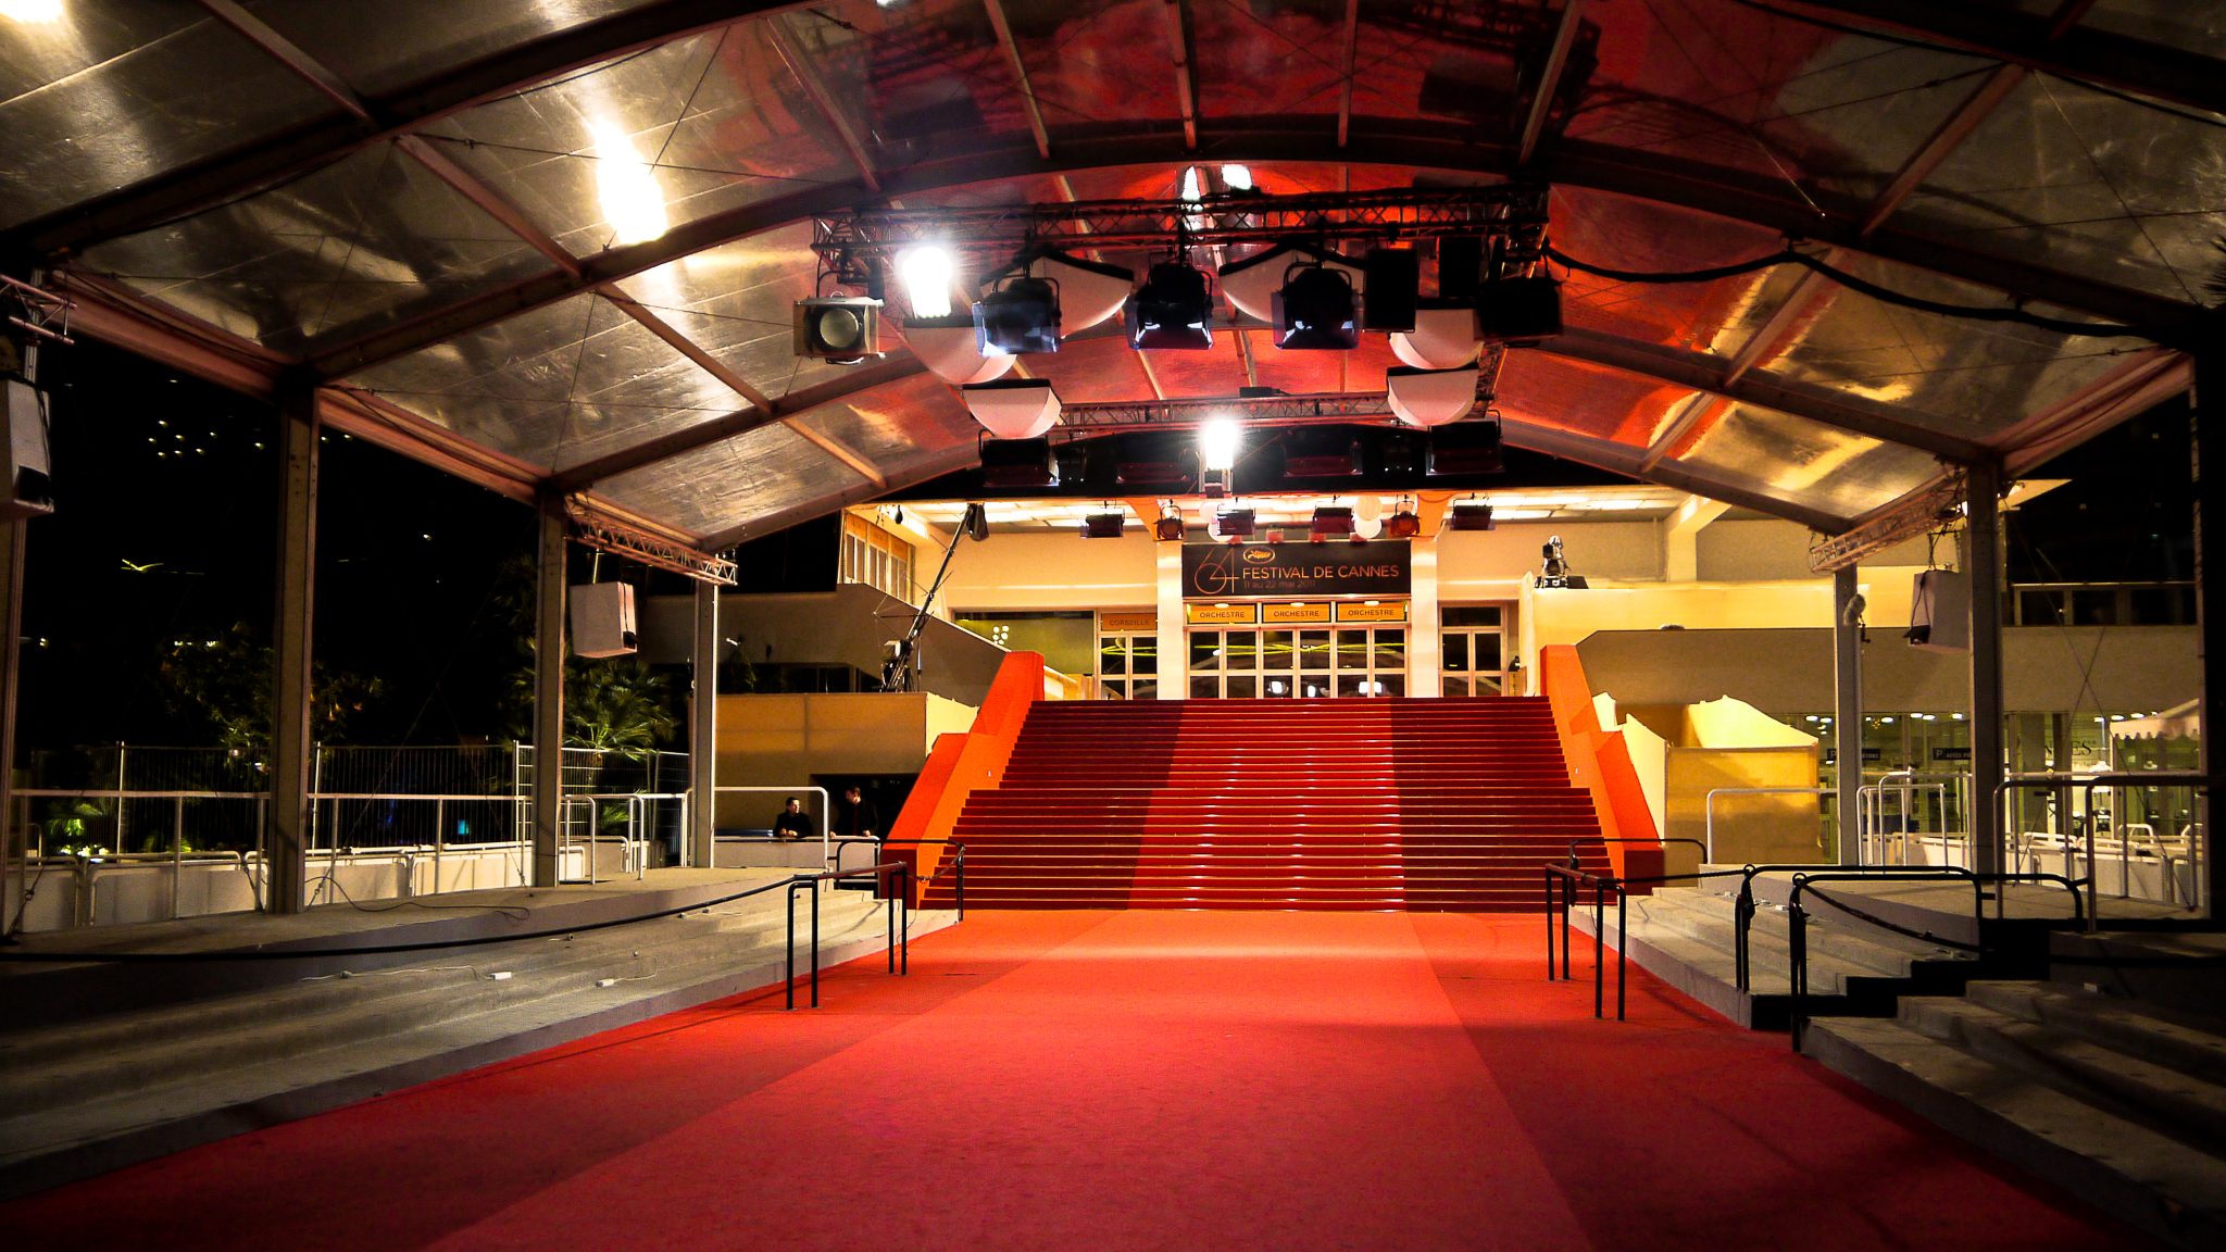
<svg viewBox="0 0 2226 1252">
<path fill-rule="evenodd" d="M 1598 833 L 1520 697 L 1044 702 L 953 831 L 971 907 L 1409 911 L 1538 909 Z"/>
</svg>

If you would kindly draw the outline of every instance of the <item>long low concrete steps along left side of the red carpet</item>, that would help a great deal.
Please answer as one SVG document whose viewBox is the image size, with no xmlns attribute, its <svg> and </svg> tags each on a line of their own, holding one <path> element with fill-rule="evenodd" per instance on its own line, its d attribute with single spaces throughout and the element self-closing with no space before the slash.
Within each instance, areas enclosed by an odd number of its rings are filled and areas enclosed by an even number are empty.
<svg viewBox="0 0 2226 1252">
<path fill-rule="evenodd" d="M 915 911 L 913 936 L 951 920 Z M 9 1058 L 7 1083 L 22 1103 L 0 1105 L 9 1109 L 0 1118 L 0 1196 L 779 985 L 779 904 L 670 922 L 643 922 L 668 927 L 661 936 L 617 927 L 572 942 L 516 940 L 461 949 L 467 960 L 427 960 L 510 969 L 505 980 L 374 971 L 211 1000 L 200 1016 L 194 1005 L 160 1009 L 149 1014 L 160 1023 L 140 1023 L 136 1043 L 129 1023 L 120 1031 L 100 1023 L 102 1045 L 69 1052 L 51 1052 L 69 1043 L 67 1029 L 9 1038 L 0 1058 Z M 884 929 L 877 902 L 826 898 L 821 967 L 879 953 Z M 806 967 L 799 953 L 799 978 Z M 599 985 L 605 978 L 610 987 Z M 38 1052 L 51 1056 L 40 1060 Z"/>
</svg>

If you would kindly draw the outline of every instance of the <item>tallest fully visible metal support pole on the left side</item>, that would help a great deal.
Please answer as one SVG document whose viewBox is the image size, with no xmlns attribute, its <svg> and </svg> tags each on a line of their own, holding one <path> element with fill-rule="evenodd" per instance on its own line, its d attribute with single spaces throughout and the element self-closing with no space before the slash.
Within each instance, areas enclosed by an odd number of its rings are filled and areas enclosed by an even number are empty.
<svg viewBox="0 0 2226 1252">
<path fill-rule="evenodd" d="M 263 833 L 272 913 L 307 907 L 318 437 L 316 392 L 292 390 L 278 405 L 278 622 L 272 628 L 272 804 Z"/>
</svg>

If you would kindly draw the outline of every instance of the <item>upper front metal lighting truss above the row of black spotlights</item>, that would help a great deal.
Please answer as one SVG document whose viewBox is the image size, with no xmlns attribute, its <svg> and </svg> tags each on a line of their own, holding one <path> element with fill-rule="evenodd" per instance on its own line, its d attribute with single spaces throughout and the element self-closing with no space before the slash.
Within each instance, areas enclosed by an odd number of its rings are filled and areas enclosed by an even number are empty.
<svg viewBox="0 0 2226 1252">
<path fill-rule="evenodd" d="M 1198 200 L 1073 200 L 973 209 L 853 209 L 812 218 L 812 252 L 846 276 L 904 247 L 935 243 L 995 265 L 1033 245 L 1173 250 L 1186 245 L 1416 241 L 1485 236 L 1507 265 L 1540 256 L 1547 185 L 1402 187 L 1264 196 L 1220 192 Z"/>
</svg>

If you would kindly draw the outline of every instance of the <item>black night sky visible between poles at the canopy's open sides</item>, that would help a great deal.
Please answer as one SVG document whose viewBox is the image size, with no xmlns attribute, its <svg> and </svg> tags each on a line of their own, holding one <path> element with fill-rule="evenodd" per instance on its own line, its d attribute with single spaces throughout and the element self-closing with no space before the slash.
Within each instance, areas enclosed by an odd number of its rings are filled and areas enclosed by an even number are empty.
<svg viewBox="0 0 2226 1252">
<path fill-rule="evenodd" d="M 31 524 L 22 744 L 209 742 L 171 715 L 158 666 L 174 639 L 240 622 L 269 639 L 278 419 L 91 341 L 49 348 L 42 381 L 58 503 Z M 2186 466 L 2188 410 L 2170 401 L 2037 470 L 2077 479 L 2010 515 L 2010 577 L 2190 577 Z M 347 737 L 505 737 L 532 510 L 343 434 L 327 434 L 321 492 L 318 664 L 385 684 Z M 603 561 L 617 570 L 639 577 Z"/>
</svg>

